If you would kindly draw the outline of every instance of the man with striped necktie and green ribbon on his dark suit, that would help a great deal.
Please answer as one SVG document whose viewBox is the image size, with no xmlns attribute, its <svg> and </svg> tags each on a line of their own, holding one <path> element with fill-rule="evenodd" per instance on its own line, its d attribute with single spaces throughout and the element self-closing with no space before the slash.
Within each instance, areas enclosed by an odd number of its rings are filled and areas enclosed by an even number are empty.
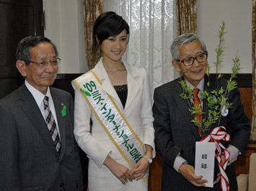
<svg viewBox="0 0 256 191">
<path fill-rule="evenodd" d="M 58 60 L 46 37 L 19 42 L 16 66 L 25 83 L 0 101 L 0 190 L 83 190 L 74 101 L 70 93 L 49 87 Z"/>
</svg>

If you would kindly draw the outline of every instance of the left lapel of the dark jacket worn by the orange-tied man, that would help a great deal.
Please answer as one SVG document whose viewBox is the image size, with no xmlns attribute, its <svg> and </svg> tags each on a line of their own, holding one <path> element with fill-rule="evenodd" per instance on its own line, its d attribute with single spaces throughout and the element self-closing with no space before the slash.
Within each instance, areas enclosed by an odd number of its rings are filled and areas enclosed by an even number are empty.
<svg viewBox="0 0 256 191">
<path fill-rule="evenodd" d="M 184 80 L 184 78 L 182 78 L 182 80 Z M 181 93 L 183 93 L 183 90 L 182 90 L 182 87 L 181 87 L 179 81 L 177 81 L 177 85 L 175 85 L 175 94 L 176 95 L 174 97 L 175 97 L 177 106 L 179 107 L 180 111 L 182 111 L 182 113 L 184 114 L 182 120 L 187 121 L 188 128 L 190 128 L 190 130 L 193 132 L 194 136 L 197 139 L 200 139 L 197 127 L 191 122 L 193 120 L 193 116 L 191 115 L 191 113 L 189 111 L 190 101 L 182 99 L 180 97 Z"/>
</svg>

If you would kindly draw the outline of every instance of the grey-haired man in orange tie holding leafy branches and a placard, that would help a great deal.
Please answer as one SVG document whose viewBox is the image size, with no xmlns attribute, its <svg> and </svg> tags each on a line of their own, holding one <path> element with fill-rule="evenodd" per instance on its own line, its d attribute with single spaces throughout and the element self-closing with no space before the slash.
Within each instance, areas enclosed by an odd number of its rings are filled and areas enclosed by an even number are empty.
<svg viewBox="0 0 256 191">
<path fill-rule="evenodd" d="M 195 142 L 200 141 L 203 136 L 191 122 L 194 116 L 189 108 L 193 100 L 186 102 L 180 97 L 183 93 L 180 81 L 185 80 L 190 89 L 198 88 L 200 95 L 204 90 L 226 88 L 226 80 L 219 79 L 216 83 L 216 79 L 208 79 L 205 74 L 208 52 L 206 45 L 196 34 L 177 37 L 172 43 L 171 52 L 172 65 L 182 77 L 156 88 L 153 106 L 156 150 L 164 159 L 162 191 L 221 190 L 218 162 L 215 162 L 213 188 L 204 187 L 207 180 L 195 175 Z M 208 82 L 210 87 L 207 86 Z M 234 105 L 229 111 L 222 113 L 219 126 L 226 127 L 231 135 L 231 140 L 223 144 L 230 152 L 226 174 L 230 190 L 234 191 L 237 190 L 237 179 L 233 162 L 239 154 L 245 152 L 250 137 L 250 123 L 244 114 L 238 89 L 231 92 L 228 101 Z M 201 106 L 203 112 L 206 111 L 207 101 L 201 100 Z M 210 131 L 216 126 L 218 125 L 213 124 Z"/>
</svg>

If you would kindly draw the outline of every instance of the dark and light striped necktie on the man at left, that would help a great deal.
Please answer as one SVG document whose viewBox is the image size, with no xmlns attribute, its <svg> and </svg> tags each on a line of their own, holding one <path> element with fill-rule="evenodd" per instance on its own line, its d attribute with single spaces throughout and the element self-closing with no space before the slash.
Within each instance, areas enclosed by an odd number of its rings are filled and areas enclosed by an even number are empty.
<svg viewBox="0 0 256 191">
<path fill-rule="evenodd" d="M 50 131 L 50 135 L 53 139 L 54 145 L 56 146 L 56 151 L 58 152 L 58 156 L 60 156 L 61 141 L 60 141 L 60 137 L 58 136 L 58 130 L 57 130 L 56 122 L 53 118 L 53 114 L 50 112 L 48 96 L 45 96 L 45 98 L 43 99 L 43 105 L 45 110 L 45 121 Z"/>
</svg>

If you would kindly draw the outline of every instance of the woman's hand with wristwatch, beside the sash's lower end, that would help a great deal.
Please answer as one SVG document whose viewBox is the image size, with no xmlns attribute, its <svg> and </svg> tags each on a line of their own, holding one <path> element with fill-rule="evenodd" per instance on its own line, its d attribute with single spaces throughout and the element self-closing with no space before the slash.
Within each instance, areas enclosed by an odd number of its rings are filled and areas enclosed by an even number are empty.
<svg viewBox="0 0 256 191">
<path fill-rule="evenodd" d="M 134 177 L 136 180 L 140 180 L 142 177 L 144 177 L 144 174 L 146 173 L 146 170 L 149 168 L 149 161 L 145 158 L 142 157 L 135 167 L 131 169 L 131 172 L 134 174 Z"/>
</svg>

